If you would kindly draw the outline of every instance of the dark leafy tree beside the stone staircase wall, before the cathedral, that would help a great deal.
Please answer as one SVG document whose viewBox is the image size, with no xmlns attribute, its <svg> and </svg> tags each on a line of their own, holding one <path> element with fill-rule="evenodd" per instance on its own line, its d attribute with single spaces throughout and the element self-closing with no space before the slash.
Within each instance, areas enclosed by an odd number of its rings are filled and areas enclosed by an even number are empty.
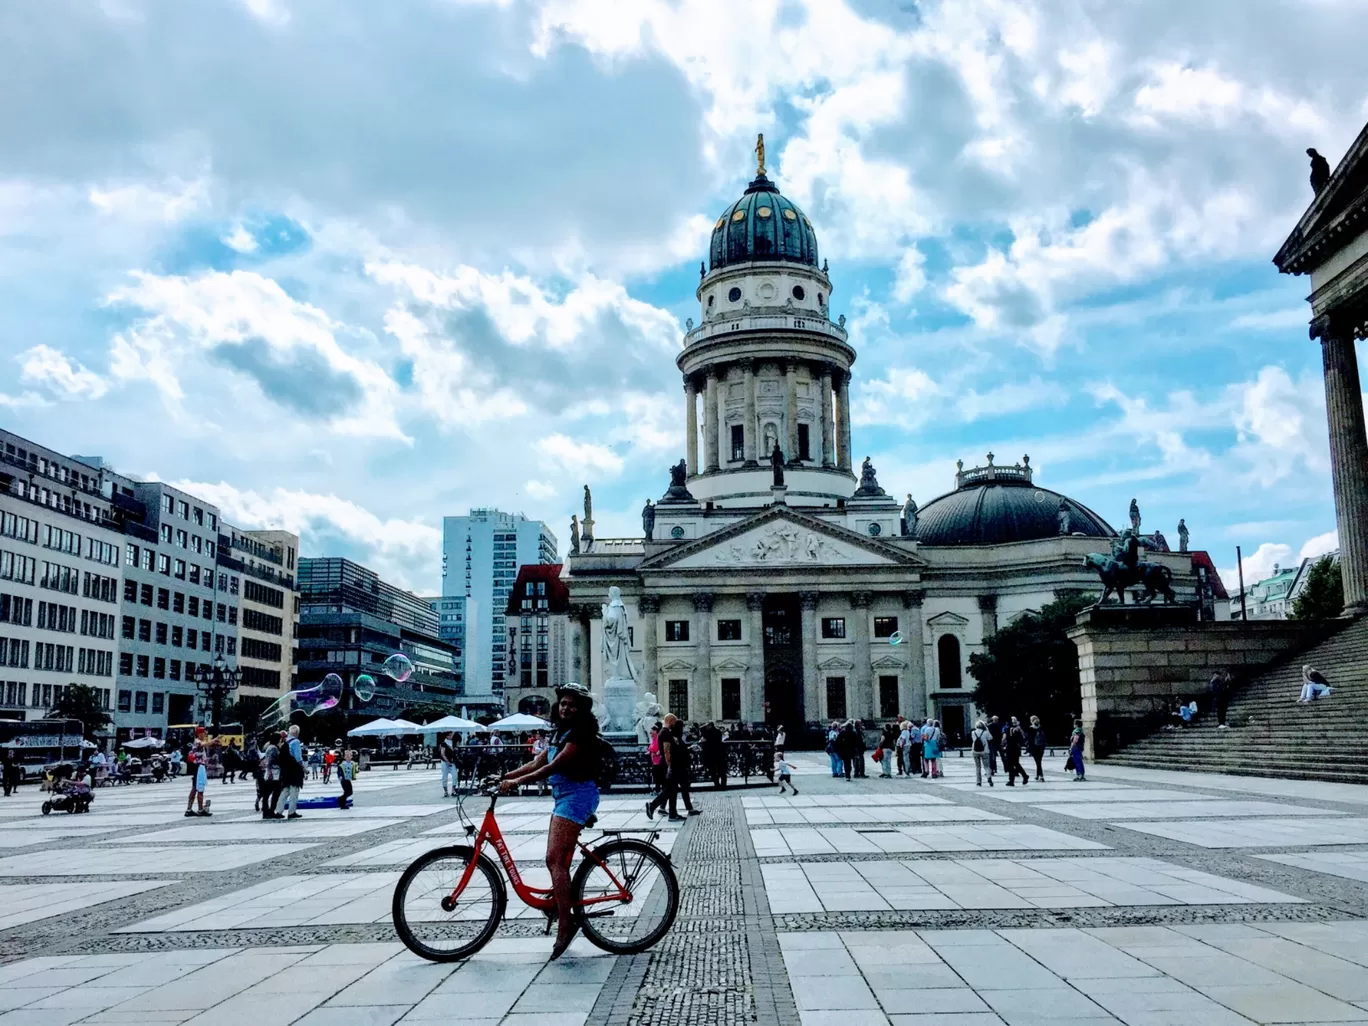
<svg viewBox="0 0 1368 1026">
<path fill-rule="evenodd" d="M 1078 714 L 1078 648 L 1064 635 L 1092 595 L 1056 595 L 1040 613 L 1023 613 L 988 637 L 982 653 L 969 657 L 978 681 L 974 703 L 985 713 L 1038 715 L 1045 732 L 1062 740 Z"/>
</svg>

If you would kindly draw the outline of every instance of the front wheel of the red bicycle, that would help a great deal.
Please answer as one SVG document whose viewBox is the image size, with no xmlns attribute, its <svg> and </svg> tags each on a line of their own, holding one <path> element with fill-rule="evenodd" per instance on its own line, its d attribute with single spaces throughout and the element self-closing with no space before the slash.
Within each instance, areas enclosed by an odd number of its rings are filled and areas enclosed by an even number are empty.
<svg viewBox="0 0 1368 1026">
<path fill-rule="evenodd" d="M 508 907 L 503 878 L 484 855 L 465 889 L 453 902 L 475 850 L 466 844 L 436 848 L 404 870 L 394 886 L 394 930 L 409 951 L 432 962 L 469 958 L 499 928 Z"/>
</svg>

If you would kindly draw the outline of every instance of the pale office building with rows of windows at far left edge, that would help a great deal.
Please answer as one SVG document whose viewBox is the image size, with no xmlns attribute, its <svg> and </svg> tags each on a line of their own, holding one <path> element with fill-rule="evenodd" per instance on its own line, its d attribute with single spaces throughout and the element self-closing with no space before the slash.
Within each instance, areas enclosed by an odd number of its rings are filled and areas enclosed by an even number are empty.
<svg viewBox="0 0 1368 1026">
<path fill-rule="evenodd" d="M 0 717 L 68 684 L 114 702 L 123 538 L 104 475 L 0 431 Z"/>
</svg>

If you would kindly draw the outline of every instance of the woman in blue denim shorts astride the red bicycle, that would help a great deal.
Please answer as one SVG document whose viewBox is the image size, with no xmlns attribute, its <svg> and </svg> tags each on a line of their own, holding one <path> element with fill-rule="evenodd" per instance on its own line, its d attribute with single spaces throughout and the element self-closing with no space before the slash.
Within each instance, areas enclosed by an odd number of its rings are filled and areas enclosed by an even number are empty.
<svg viewBox="0 0 1368 1026">
<path fill-rule="evenodd" d="M 510 795 L 521 784 L 546 780 L 551 784 L 551 828 L 546 839 L 546 867 L 551 873 L 551 893 L 555 899 L 554 962 L 575 940 L 579 929 L 570 911 L 570 860 L 580 839 L 580 830 L 598 808 L 598 720 L 594 718 L 594 696 L 583 684 L 573 681 L 555 689 L 555 733 L 546 751 L 529 763 L 518 766 L 499 778 L 499 793 Z"/>
</svg>

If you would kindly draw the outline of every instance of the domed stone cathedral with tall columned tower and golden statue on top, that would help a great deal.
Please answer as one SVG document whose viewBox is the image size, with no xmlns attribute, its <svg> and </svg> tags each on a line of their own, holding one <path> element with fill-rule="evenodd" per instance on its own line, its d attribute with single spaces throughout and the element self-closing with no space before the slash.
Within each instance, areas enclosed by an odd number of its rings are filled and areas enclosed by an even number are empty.
<svg viewBox="0 0 1368 1026">
<path fill-rule="evenodd" d="M 1101 591 L 1083 557 L 1109 553 L 1116 531 L 1037 487 L 1029 457 L 959 465 L 953 488 L 919 509 L 889 495 L 870 460 L 854 465 L 856 353 L 832 291 L 762 137 L 754 181 L 714 224 L 699 321 L 676 358 L 684 456 L 669 487 L 642 510 L 639 538 L 595 538 L 588 488 L 572 525 L 570 672 L 595 692 L 617 586 L 637 696 L 691 722 L 782 724 L 798 739 L 804 725 L 900 714 L 963 737 L 984 640 L 1057 591 Z M 1190 601 L 1192 554 L 1149 558 Z"/>
</svg>

